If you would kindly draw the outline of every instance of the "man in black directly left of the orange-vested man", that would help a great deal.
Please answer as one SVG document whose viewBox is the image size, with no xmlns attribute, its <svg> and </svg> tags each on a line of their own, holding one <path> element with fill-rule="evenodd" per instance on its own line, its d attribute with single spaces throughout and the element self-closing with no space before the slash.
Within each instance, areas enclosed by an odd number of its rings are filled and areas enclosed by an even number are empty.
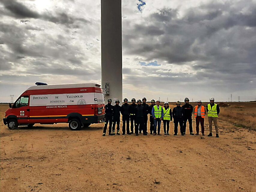
<svg viewBox="0 0 256 192">
<path fill-rule="evenodd" d="M 189 104 L 189 99 L 186 97 L 184 99 L 185 101 L 185 105 L 182 105 L 182 108 L 184 110 L 184 124 L 183 124 L 183 131 L 184 131 L 184 135 L 186 134 L 186 126 L 187 126 L 187 120 L 189 123 L 189 132 L 191 135 L 193 134 L 193 128 L 192 128 L 192 113 L 193 113 L 193 106 L 191 104 Z"/>
</svg>

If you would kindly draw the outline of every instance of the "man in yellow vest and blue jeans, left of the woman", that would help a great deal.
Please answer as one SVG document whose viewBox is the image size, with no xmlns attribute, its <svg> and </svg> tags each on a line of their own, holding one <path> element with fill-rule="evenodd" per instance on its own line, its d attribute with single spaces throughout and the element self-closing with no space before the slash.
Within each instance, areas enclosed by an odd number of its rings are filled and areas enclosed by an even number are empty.
<svg viewBox="0 0 256 192">
<path fill-rule="evenodd" d="M 161 127 L 161 121 L 164 117 L 164 110 L 162 108 L 162 106 L 160 105 L 160 100 L 156 101 L 156 105 L 152 108 L 152 116 L 154 118 L 154 131 L 153 131 L 153 135 L 156 135 L 156 126 L 158 126 L 157 128 L 157 134 L 160 134 L 160 127 Z"/>
</svg>

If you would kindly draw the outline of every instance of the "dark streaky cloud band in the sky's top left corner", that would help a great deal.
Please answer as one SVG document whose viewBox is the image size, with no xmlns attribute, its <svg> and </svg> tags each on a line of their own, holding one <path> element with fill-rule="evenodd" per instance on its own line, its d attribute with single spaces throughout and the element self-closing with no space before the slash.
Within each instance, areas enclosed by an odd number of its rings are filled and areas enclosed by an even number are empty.
<svg viewBox="0 0 256 192">
<path fill-rule="evenodd" d="M 1 13 L 3 15 L 12 16 L 15 18 L 42 19 L 56 24 L 63 24 L 68 28 L 79 28 L 80 26 L 76 23 L 77 21 L 89 23 L 89 21 L 84 18 L 72 17 L 64 12 L 55 13 L 55 15 L 53 15 L 51 12 L 40 14 L 15 0 L 2 0 L 2 4 L 4 5 L 5 9 L 1 10 Z"/>
</svg>

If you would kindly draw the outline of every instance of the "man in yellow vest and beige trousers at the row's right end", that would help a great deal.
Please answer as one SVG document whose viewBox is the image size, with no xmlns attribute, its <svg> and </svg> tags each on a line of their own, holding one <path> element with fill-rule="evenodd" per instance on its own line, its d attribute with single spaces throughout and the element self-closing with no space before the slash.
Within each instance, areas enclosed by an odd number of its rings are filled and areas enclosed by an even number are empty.
<svg viewBox="0 0 256 192">
<path fill-rule="evenodd" d="M 214 103 L 214 101 L 215 99 L 213 97 L 210 98 L 210 103 L 206 107 L 208 121 L 209 121 L 209 131 L 210 131 L 208 137 L 212 136 L 212 122 L 214 123 L 216 137 L 219 137 L 217 120 L 218 120 L 218 115 L 220 113 L 220 108 L 217 104 Z"/>
</svg>

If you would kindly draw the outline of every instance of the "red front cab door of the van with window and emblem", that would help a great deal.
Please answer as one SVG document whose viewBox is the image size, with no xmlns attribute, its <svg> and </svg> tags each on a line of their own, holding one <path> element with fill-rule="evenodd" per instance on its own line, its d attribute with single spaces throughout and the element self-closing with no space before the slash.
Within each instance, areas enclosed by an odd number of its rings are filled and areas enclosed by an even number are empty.
<svg viewBox="0 0 256 192">
<path fill-rule="evenodd" d="M 29 123 L 29 96 L 20 97 L 13 105 L 12 112 L 17 116 L 19 124 Z"/>
</svg>

